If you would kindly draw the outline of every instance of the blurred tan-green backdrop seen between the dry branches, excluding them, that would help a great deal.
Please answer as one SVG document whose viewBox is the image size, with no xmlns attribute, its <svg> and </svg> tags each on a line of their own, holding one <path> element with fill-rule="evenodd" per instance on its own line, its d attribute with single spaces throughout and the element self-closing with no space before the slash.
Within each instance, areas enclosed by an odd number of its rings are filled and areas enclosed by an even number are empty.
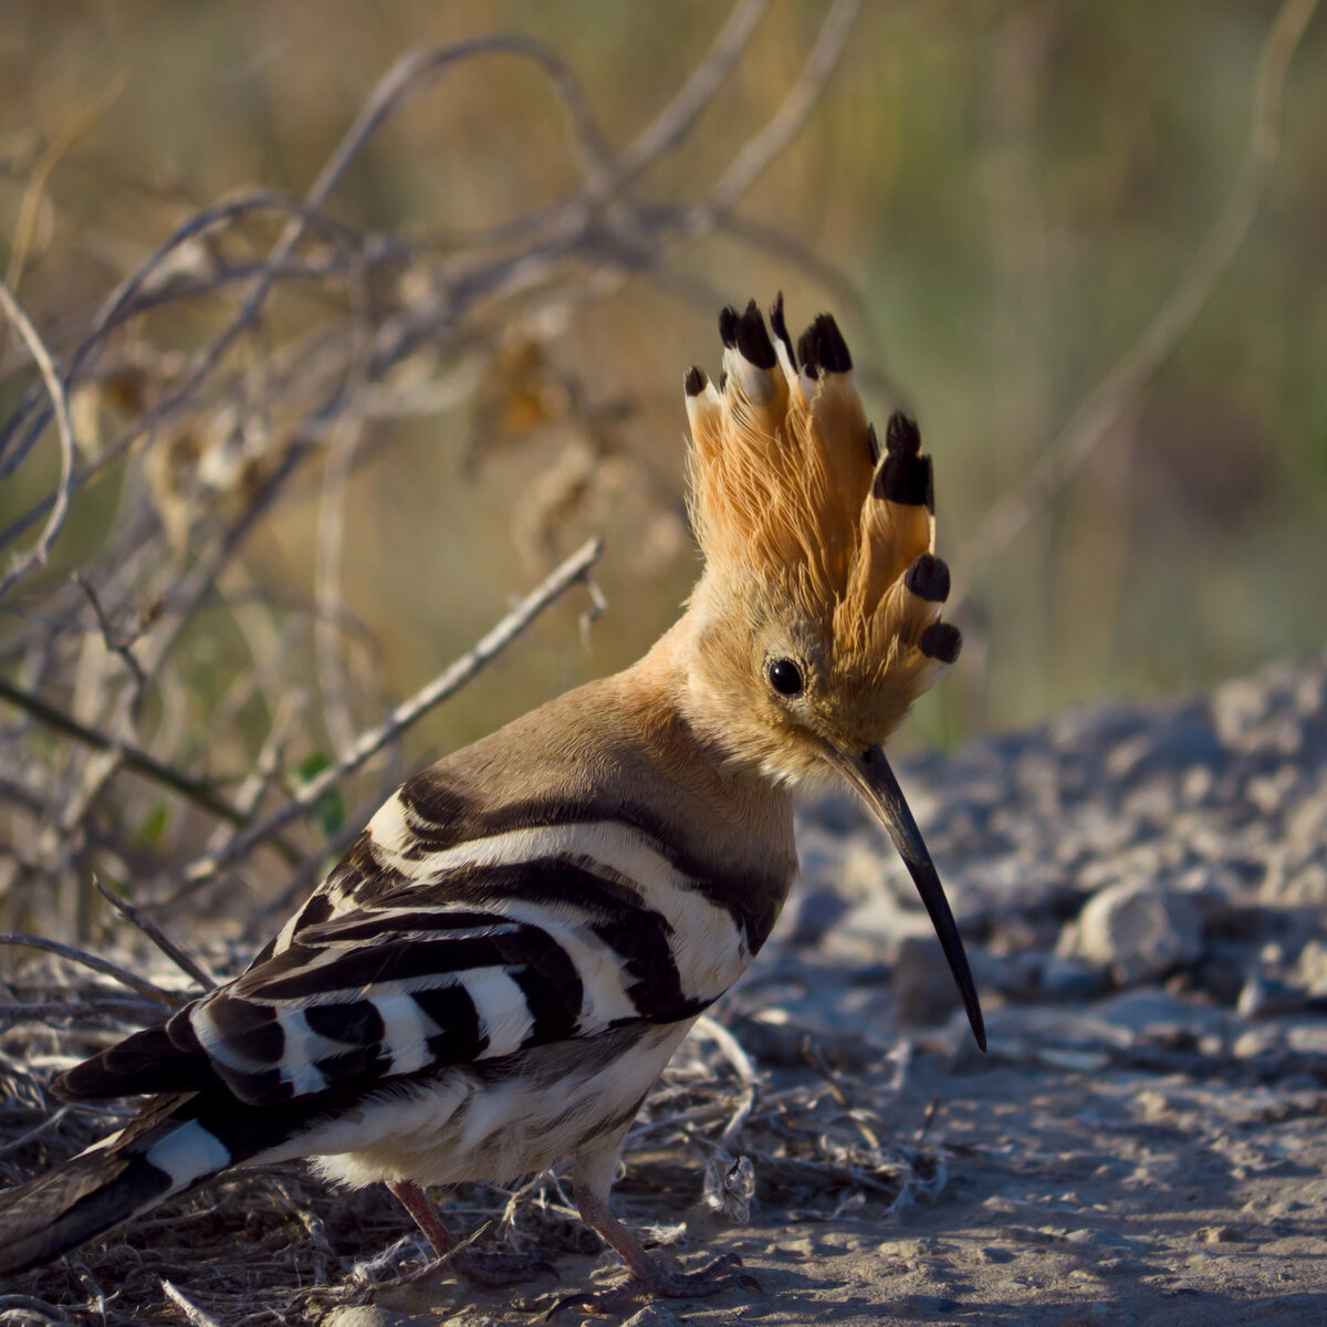
<svg viewBox="0 0 1327 1327">
<path fill-rule="evenodd" d="M 824 8 L 772 4 L 699 125 L 636 192 L 660 204 L 703 194 L 778 106 Z M 981 565 L 965 565 L 962 552 L 965 533 L 1140 334 L 1220 212 L 1247 147 L 1254 69 L 1275 12 L 1258 0 L 868 0 L 803 133 L 735 211 L 837 268 L 873 326 L 791 255 L 734 234 L 674 251 L 677 280 L 644 273 L 573 312 L 549 353 L 606 421 L 612 455 L 559 508 L 544 551 L 602 531 L 609 610 L 585 650 L 584 598 L 571 596 L 421 726 L 407 763 L 625 665 L 673 620 L 695 572 L 681 527 L 681 374 L 693 361 L 715 366 L 719 349 L 715 311 L 686 280 L 729 300 L 767 301 L 782 288 L 794 322 L 839 313 L 857 360 L 874 360 L 922 423 L 941 551 L 970 588 L 967 649 L 905 740 L 957 742 L 1074 702 L 1196 689 L 1320 649 L 1320 13 L 1290 68 L 1266 206 L 1213 299 L 1064 488 Z M 35 173 L 49 167 L 17 289 L 61 352 L 195 208 L 253 186 L 303 195 L 407 46 L 495 31 L 539 37 L 581 80 L 618 146 L 685 82 L 726 13 L 682 0 L 8 0 L 0 263 L 15 275 L 25 199 L 31 208 Z M 576 182 L 547 81 L 491 56 L 455 69 L 372 139 L 328 211 L 446 249 Z M 314 289 L 273 314 L 317 317 Z M 210 314 L 184 308 L 150 334 L 194 349 L 214 330 Z M 7 352 L 0 414 L 31 381 L 13 336 Z M 890 405 L 873 394 L 877 421 Z M 531 552 L 523 523 L 584 421 L 552 411 L 544 427 L 480 438 L 483 463 L 467 476 L 475 425 L 472 403 L 380 422 L 350 480 L 344 598 L 360 671 L 382 697 L 433 677 L 551 565 Z M 142 463 L 137 454 L 80 496 L 50 577 L 94 555 Z M 56 472 L 48 438 L 0 484 L 0 522 Z M 307 478 L 244 547 L 255 601 L 309 604 L 318 498 Z M 202 713 L 248 666 L 257 628 L 235 604 L 208 605 L 190 628 L 186 703 Z M 21 625 L 20 613 L 0 630 Z M 312 649 L 301 649 L 316 706 Z M 269 722 L 263 709 L 255 699 L 239 710 L 251 747 Z"/>
</svg>

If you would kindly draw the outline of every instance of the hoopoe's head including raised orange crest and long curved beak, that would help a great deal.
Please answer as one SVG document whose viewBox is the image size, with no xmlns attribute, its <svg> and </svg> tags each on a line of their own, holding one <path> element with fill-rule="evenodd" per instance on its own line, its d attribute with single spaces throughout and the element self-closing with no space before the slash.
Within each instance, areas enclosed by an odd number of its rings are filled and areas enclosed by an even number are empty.
<svg viewBox="0 0 1327 1327">
<path fill-rule="evenodd" d="M 885 759 L 908 707 L 958 657 L 940 621 L 930 456 L 894 414 L 867 421 L 820 314 L 796 348 L 782 297 L 719 316 L 723 376 L 687 370 L 691 518 L 705 573 L 687 612 L 695 722 L 780 782 L 835 771 L 881 820 L 921 892 L 979 1043 L 981 1011 L 940 877 Z"/>
</svg>

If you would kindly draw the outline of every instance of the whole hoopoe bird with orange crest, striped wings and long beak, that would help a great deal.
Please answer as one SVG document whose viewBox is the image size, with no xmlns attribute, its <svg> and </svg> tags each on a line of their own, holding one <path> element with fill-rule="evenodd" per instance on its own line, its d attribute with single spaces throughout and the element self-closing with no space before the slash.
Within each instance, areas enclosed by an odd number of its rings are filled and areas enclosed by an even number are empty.
<svg viewBox="0 0 1327 1327">
<path fill-rule="evenodd" d="M 772 326 L 774 337 L 770 334 Z M 901 853 L 985 1048 L 940 877 L 881 743 L 958 654 L 940 621 L 932 462 L 884 447 L 820 314 L 719 317 L 723 374 L 685 377 L 705 569 L 633 667 L 417 774 L 234 981 L 57 1079 L 150 1095 L 121 1132 L 0 1197 L 0 1271 L 58 1257 L 230 1166 L 312 1157 L 384 1182 L 478 1285 L 425 1188 L 573 1161 L 626 1263 L 598 1296 L 707 1295 L 735 1259 L 665 1269 L 609 1212 L 628 1129 L 695 1018 L 768 938 L 796 873 L 790 790 L 837 774 Z"/>
</svg>

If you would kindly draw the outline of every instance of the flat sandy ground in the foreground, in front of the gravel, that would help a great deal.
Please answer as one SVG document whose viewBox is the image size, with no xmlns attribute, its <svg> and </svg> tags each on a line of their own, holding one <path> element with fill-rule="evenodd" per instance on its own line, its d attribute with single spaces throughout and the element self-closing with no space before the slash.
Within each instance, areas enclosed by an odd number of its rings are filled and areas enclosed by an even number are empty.
<svg viewBox="0 0 1327 1327">
<path fill-rule="evenodd" d="M 641 1327 L 1327 1322 L 1320 1089 L 1241 1083 L 1220 1070 L 951 1071 L 922 1056 L 898 1101 L 901 1128 L 920 1128 L 932 1093 L 945 1104 L 930 1133 L 950 1153 L 938 1200 L 896 1220 L 863 1208 L 831 1221 L 764 1210 L 727 1230 L 697 1221 L 695 1234 L 714 1231 L 711 1247 L 742 1254 L 763 1292 L 656 1304 Z M 638 1201 L 624 1208 L 648 1212 Z M 559 1259 L 568 1287 L 593 1266 Z M 384 1327 L 397 1314 L 466 1327 L 529 1320 L 438 1282 L 378 1303 L 395 1311 L 378 1319 Z"/>
</svg>

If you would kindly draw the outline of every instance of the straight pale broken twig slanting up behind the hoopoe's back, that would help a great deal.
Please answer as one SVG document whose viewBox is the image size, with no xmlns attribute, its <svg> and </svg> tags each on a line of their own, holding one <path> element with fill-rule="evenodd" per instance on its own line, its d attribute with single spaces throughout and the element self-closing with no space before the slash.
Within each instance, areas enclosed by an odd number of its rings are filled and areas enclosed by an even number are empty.
<svg viewBox="0 0 1327 1327">
<path fill-rule="evenodd" d="M 196 882 L 210 878 L 222 867 L 231 865 L 245 857 L 253 848 L 271 839 L 272 835 L 283 829 L 292 820 L 307 815 L 318 798 L 358 770 L 360 766 L 377 755 L 385 746 L 394 742 L 435 705 L 439 705 L 454 691 L 464 686 L 486 664 L 491 662 L 516 640 L 544 609 L 556 602 L 572 585 L 584 581 L 602 551 L 604 545 L 598 539 L 592 539 L 583 544 L 543 584 L 527 594 L 474 649 L 463 654 L 445 673 L 417 691 L 403 705 L 397 706 L 385 723 L 361 733 L 350 750 L 336 764 L 329 766 L 320 775 L 301 784 L 299 792 L 285 805 L 279 807 L 257 823 L 243 829 L 219 852 L 208 853 L 192 863 L 184 873 L 186 880 Z"/>
</svg>

